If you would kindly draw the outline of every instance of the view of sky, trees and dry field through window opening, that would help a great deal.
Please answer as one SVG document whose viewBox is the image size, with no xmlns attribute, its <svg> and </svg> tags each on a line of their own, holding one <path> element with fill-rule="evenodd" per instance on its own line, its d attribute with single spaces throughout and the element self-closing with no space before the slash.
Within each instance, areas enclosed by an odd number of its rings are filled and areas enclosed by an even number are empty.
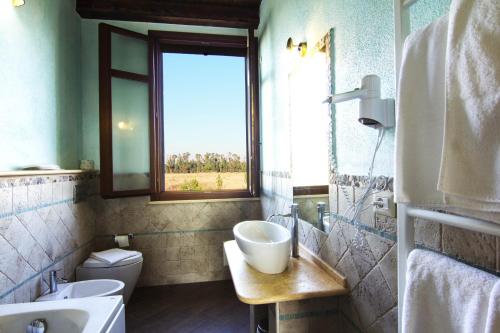
<svg viewBox="0 0 500 333">
<path fill-rule="evenodd" d="M 245 58 L 164 53 L 166 191 L 247 189 Z"/>
</svg>

